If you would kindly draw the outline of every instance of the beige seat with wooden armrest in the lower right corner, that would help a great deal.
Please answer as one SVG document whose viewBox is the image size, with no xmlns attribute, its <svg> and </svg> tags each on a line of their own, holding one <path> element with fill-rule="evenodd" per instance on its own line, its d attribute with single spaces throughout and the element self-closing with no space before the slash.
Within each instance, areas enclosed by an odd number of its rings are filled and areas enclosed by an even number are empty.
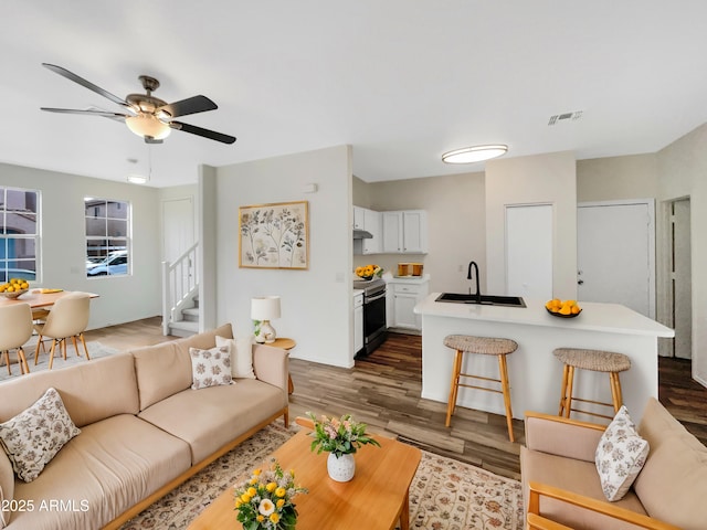
<svg viewBox="0 0 707 530">
<path fill-rule="evenodd" d="M 603 430 L 526 413 L 520 467 L 529 513 L 572 529 L 707 529 L 707 447 L 650 399 L 637 428 L 648 456 L 625 497 L 609 502 L 594 464 Z"/>
</svg>

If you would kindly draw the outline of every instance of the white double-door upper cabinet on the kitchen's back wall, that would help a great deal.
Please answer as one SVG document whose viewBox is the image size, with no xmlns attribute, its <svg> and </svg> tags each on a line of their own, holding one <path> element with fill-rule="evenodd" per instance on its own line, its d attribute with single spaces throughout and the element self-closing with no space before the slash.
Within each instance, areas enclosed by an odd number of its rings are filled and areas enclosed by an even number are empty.
<svg viewBox="0 0 707 530">
<path fill-rule="evenodd" d="M 384 254 L 426 254 L 428 213 L 424 210 L 380 212 Z"/>
</svg>

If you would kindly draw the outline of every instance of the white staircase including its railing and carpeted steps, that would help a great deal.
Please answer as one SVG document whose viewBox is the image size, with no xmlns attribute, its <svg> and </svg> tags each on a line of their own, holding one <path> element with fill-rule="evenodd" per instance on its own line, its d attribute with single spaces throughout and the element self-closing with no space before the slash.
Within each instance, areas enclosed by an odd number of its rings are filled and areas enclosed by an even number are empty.
<svg viewBox="0 0 707 530">
<path fill-rule="evenodd" d="M 162 333 L 189 337 L 199 332 L 199 243 L 173 263 L 162 262 Z"/>
</svg>

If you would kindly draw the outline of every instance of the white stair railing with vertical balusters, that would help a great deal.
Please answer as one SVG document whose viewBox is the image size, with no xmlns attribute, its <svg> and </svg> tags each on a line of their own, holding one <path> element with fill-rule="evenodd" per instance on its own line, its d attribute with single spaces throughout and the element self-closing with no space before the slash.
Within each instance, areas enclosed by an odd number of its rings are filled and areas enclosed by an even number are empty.
<svg viewBox="0 0 707 530">
<path fill-rule="evenodd" d="M 199 289 L 199 243 L 187 248 L 173 263 L 162 262 L 162 332 Z"/>
</svg>

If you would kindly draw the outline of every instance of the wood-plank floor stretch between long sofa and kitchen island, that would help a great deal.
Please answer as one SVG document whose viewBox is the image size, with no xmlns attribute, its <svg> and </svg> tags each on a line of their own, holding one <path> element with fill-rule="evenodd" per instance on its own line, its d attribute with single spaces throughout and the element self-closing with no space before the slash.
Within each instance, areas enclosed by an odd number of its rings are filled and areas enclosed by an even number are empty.
<svg viewBox="0 0 707 530">
<path fill-rule="evenodd" d="M 418 336 L 391 333 L 352 370 L 291 360 L 295 384 L 291 414 L 350 412 L 373 431 L 387 432 L 426 451 L 519 478 L 523 422 L 514 421 L 508 441 L 505 416 L 457 407 L 450 428 L 446 404 L 420 398 L 422 347 Z M 500 400 L 500 395 L 498 396 Z"/>
</svg>

